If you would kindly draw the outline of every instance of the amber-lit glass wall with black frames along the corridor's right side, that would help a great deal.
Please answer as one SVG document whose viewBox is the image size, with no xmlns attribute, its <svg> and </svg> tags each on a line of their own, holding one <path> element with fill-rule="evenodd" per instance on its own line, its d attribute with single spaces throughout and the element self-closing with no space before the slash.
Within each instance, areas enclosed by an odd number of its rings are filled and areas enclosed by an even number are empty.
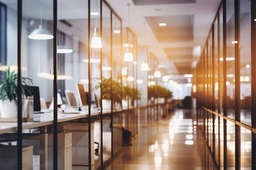
<svg viewBox="0 0 256 170">
<path fill-rule="evenodd" d="M 243 0 L 221 3 L 204 47 L 207 52 L 203 51 L 196 69 L 198 127 L 217 169 L 255 166 L 252 162 L 255 129 L 251 126 L 255 101 L 251 85 L 252 55 L 255 55 L 251 48 L 251 41 L 255 41 L 251 34 L 255 21 L 252 6 L 254 2 Z M 214 78 L 209 78 L 211 75 Z M 210 120 L 214 120 L 213 124 Z"/>
</svg>

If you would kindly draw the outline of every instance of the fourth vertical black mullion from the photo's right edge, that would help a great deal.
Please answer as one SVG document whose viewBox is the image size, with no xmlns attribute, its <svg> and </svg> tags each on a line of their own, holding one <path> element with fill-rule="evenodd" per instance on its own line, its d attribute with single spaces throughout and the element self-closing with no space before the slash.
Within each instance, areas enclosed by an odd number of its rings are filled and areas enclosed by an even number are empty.
<svg viewBox="0 0 256 170">
<path fill-rule="evenodd" d="M 220 74 L 220 12 L 218 12 L 218 113 L 221 112 L 221 74 Z M 218 116 L 218 169 L 221 166 L 221 159 L 220 159 L 220 117 Z"/>
</svg>

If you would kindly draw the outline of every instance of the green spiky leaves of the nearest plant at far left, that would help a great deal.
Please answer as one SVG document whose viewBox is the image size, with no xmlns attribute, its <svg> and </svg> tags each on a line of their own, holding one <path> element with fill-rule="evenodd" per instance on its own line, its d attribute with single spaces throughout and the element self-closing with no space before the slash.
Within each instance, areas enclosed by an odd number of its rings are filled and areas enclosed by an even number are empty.
<svg viewBox="0 0 256 170">
<path fill-rule="evenodd" d="M 10 101 L 17 101 L 18 74 L 15 71 L 11 71 L 10 67 L 8 67 L 6 72 L 0 73 L 0 76 L 0 100 L 9 99 Z M 33 92 L 27 81 L 33 84 L 33 80 L 30 78 L 22 77 L 22 96 L 33 96 Z"/>
</svg>

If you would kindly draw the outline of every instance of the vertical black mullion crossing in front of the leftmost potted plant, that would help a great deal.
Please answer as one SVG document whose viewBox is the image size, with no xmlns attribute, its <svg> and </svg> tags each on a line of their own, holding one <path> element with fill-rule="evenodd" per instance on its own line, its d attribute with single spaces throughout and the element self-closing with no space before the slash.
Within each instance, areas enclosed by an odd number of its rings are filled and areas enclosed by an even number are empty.
<svg viewBox="0 0 256 170">
<path fill-rule="evenodd" d="M 18 62 L 18 87 L 17 87 L 17 101 L 18 101 L 18 110 L 17 110 L 17 169 L 22 169 L 22 0 L 18 1 L 17 4 L 17 62 Z"/>
</svg>

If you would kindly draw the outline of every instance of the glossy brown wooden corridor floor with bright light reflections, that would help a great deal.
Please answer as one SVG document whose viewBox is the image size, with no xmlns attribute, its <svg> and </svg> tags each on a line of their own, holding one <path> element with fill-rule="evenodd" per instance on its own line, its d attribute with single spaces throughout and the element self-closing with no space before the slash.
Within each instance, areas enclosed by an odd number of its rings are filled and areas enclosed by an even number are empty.
<svg viewBox="0 0 256 170">
<path fill-rule="evenodd" d="M 199 133 L 195 110 L 175 110 L 166 118 L 141 127 L 132 146 L 124 146 L 105 169 L 215 169 Z"/>
</svg>

